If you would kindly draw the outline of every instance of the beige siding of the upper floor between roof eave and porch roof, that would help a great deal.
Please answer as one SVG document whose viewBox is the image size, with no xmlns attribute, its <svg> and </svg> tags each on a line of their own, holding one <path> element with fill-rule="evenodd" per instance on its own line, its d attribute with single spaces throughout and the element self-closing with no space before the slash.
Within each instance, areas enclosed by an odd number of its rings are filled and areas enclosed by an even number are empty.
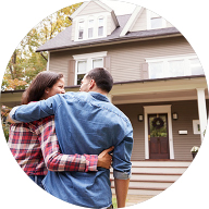
<svg viewBox="0 0 209 209">
<path fill-rule="evenodd" d="M 50 71 L 62 71 L 67 77 L 67 60 L 73 54 L 108 51 L 114 82 L 142 79 L 142 64 L 146 58 L 194 53 L 184 37 L 146 40 L 74 51 L 51 52 Z"/>
</svg>

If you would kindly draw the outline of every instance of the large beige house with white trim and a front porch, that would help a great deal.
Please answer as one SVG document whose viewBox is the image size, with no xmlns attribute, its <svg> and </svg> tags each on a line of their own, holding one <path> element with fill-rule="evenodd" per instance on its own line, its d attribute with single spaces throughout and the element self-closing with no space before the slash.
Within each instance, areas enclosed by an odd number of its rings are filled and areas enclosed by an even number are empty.
<svg viewBox="0 0 209 209">
<path fill-rule="evenodd" d="M 192 147 L 204 140 L 209 107 L 205 73 L 192 46 L 171 23 L 142 7 L 116 16 L 91 0 L 70 19 L 72 26 L 37 49 L 49 52 L 47 69 L 63 73 L 66 90 L 77 91 L 86 72 L 104 66 L 114 79 L 109 99 L 134 128 L 136 172 L 174 162 L 181 175 L 193 160 Z M 10 94 L 20 98 L 22 93 Z M 15 96 L 1 97 L 3 104 L 17 104 Z M 174 174 L 165 168 L 156 174 Z"/>
</svg>

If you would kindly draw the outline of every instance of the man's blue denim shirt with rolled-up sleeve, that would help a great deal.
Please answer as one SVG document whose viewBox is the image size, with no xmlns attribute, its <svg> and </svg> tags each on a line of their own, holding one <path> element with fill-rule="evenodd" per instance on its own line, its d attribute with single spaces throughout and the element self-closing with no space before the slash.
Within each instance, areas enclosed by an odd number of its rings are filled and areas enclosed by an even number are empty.
<svg viewBox="0 0 209 209">
<path fill-rule="evenodd" d="M 56 132 L 63 153 L 99 155 L 114 146 L 113 175 L 131 176 L 133 127 L 127 116 L 98 93 L 66 93 L 21 106 L 13 120 L 30 122 L 54 114 Z M 70 204 L 103 208 L 112 202 L 110 171 L 51 172 L 44 180 L 47 192 Z"/>
</svg>

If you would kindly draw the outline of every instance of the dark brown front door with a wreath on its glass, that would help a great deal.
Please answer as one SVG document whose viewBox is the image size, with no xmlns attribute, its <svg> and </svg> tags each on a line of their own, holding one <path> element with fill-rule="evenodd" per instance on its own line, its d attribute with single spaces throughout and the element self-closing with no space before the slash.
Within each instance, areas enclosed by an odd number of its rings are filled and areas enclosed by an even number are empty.
<svg viewBox="0 0 209 209">
<path fill-rule="evenodd" d="M 168 114 L 148 115 L 149 159 L 169 159 Z"/>
</svg>

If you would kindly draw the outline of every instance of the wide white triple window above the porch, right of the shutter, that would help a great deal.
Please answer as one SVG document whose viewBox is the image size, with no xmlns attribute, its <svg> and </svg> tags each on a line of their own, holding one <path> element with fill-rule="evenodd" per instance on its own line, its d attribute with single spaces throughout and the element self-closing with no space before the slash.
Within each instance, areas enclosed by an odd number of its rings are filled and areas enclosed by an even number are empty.
<svg viewBox="0 0 209 209">
<path fill-rule="evenodd" d="M 177 77 L 204 74 L 196 56 L 147 59 L 149 78 Z"/>
</svg>

